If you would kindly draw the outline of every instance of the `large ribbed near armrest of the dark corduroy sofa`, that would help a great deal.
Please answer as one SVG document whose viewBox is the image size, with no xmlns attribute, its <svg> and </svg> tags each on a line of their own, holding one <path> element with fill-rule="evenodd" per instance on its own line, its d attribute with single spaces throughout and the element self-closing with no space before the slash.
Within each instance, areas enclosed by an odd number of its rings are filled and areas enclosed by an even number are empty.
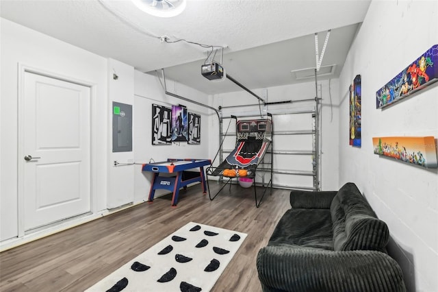
<svg viewBox="0 0 438 292">
<path fill-rule="evenodd" d="M 263 291 L 406 291 L 396 261 L 382 252 L 267 246 L 257 254 Z"/>
</svg>

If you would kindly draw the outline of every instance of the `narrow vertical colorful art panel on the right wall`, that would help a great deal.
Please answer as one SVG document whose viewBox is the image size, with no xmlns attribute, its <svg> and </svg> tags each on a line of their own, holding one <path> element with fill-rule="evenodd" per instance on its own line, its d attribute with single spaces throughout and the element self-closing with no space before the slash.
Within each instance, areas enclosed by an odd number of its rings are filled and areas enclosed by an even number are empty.
<svg viewBox="0 0 438 292">
<path fill-rule="evenodd" d="M 350 145 L 361 147 L 361 75 L 350 86 Z"/>
</svg>

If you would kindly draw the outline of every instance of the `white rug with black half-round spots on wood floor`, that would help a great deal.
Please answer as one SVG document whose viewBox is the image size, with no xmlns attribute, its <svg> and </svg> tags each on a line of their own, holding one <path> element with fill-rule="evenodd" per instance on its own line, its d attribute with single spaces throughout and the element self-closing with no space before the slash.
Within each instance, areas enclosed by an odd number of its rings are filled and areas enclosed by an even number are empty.
<svg viewBox="0 0 438 292">
<path fill-rule="evenodd" d="M 245 238 L 190 222 L 86 291 L 210 291 Z"/>
</svg>

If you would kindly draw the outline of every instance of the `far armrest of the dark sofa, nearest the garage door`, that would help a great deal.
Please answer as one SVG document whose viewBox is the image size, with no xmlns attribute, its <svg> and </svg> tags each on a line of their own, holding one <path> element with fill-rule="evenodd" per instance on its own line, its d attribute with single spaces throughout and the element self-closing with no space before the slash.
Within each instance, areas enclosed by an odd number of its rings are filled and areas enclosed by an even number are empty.
<svg viewBox="0 0 438 292">
<path fill-rule="evenodd" d="M 337 191 L 291 191 L 290 206 L 305 209 L 330 209 Z"/>
</svg>

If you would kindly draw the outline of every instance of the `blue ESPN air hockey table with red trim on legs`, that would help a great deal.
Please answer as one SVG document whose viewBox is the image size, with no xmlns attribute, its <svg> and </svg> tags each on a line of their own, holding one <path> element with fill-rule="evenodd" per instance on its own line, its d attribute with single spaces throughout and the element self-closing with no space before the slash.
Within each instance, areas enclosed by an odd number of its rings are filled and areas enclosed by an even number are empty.
<svg viewBox="0 0 438 292">
<path fill-rule="evenodd" d="M 201 182 L 203 193 L 207 193 L 205 186 L 204 167 L 211 165 L 209 159 L 168 159 L 164 162 L 153 162 L 142 165 L 142 171 L 152 171 L 153 179 L 151 191 L 149 191 L 149 202 L 153 202 L 155 190 L 165 189 L 172 191 L 172 206 L 177 206 L 179 189 L 187 187 L 193 182 Z M 188 171 L 199 168 L 199 171 Z M 161 176 L 160 173 L 175 173 L 176 176 Z"/>
</svg>

